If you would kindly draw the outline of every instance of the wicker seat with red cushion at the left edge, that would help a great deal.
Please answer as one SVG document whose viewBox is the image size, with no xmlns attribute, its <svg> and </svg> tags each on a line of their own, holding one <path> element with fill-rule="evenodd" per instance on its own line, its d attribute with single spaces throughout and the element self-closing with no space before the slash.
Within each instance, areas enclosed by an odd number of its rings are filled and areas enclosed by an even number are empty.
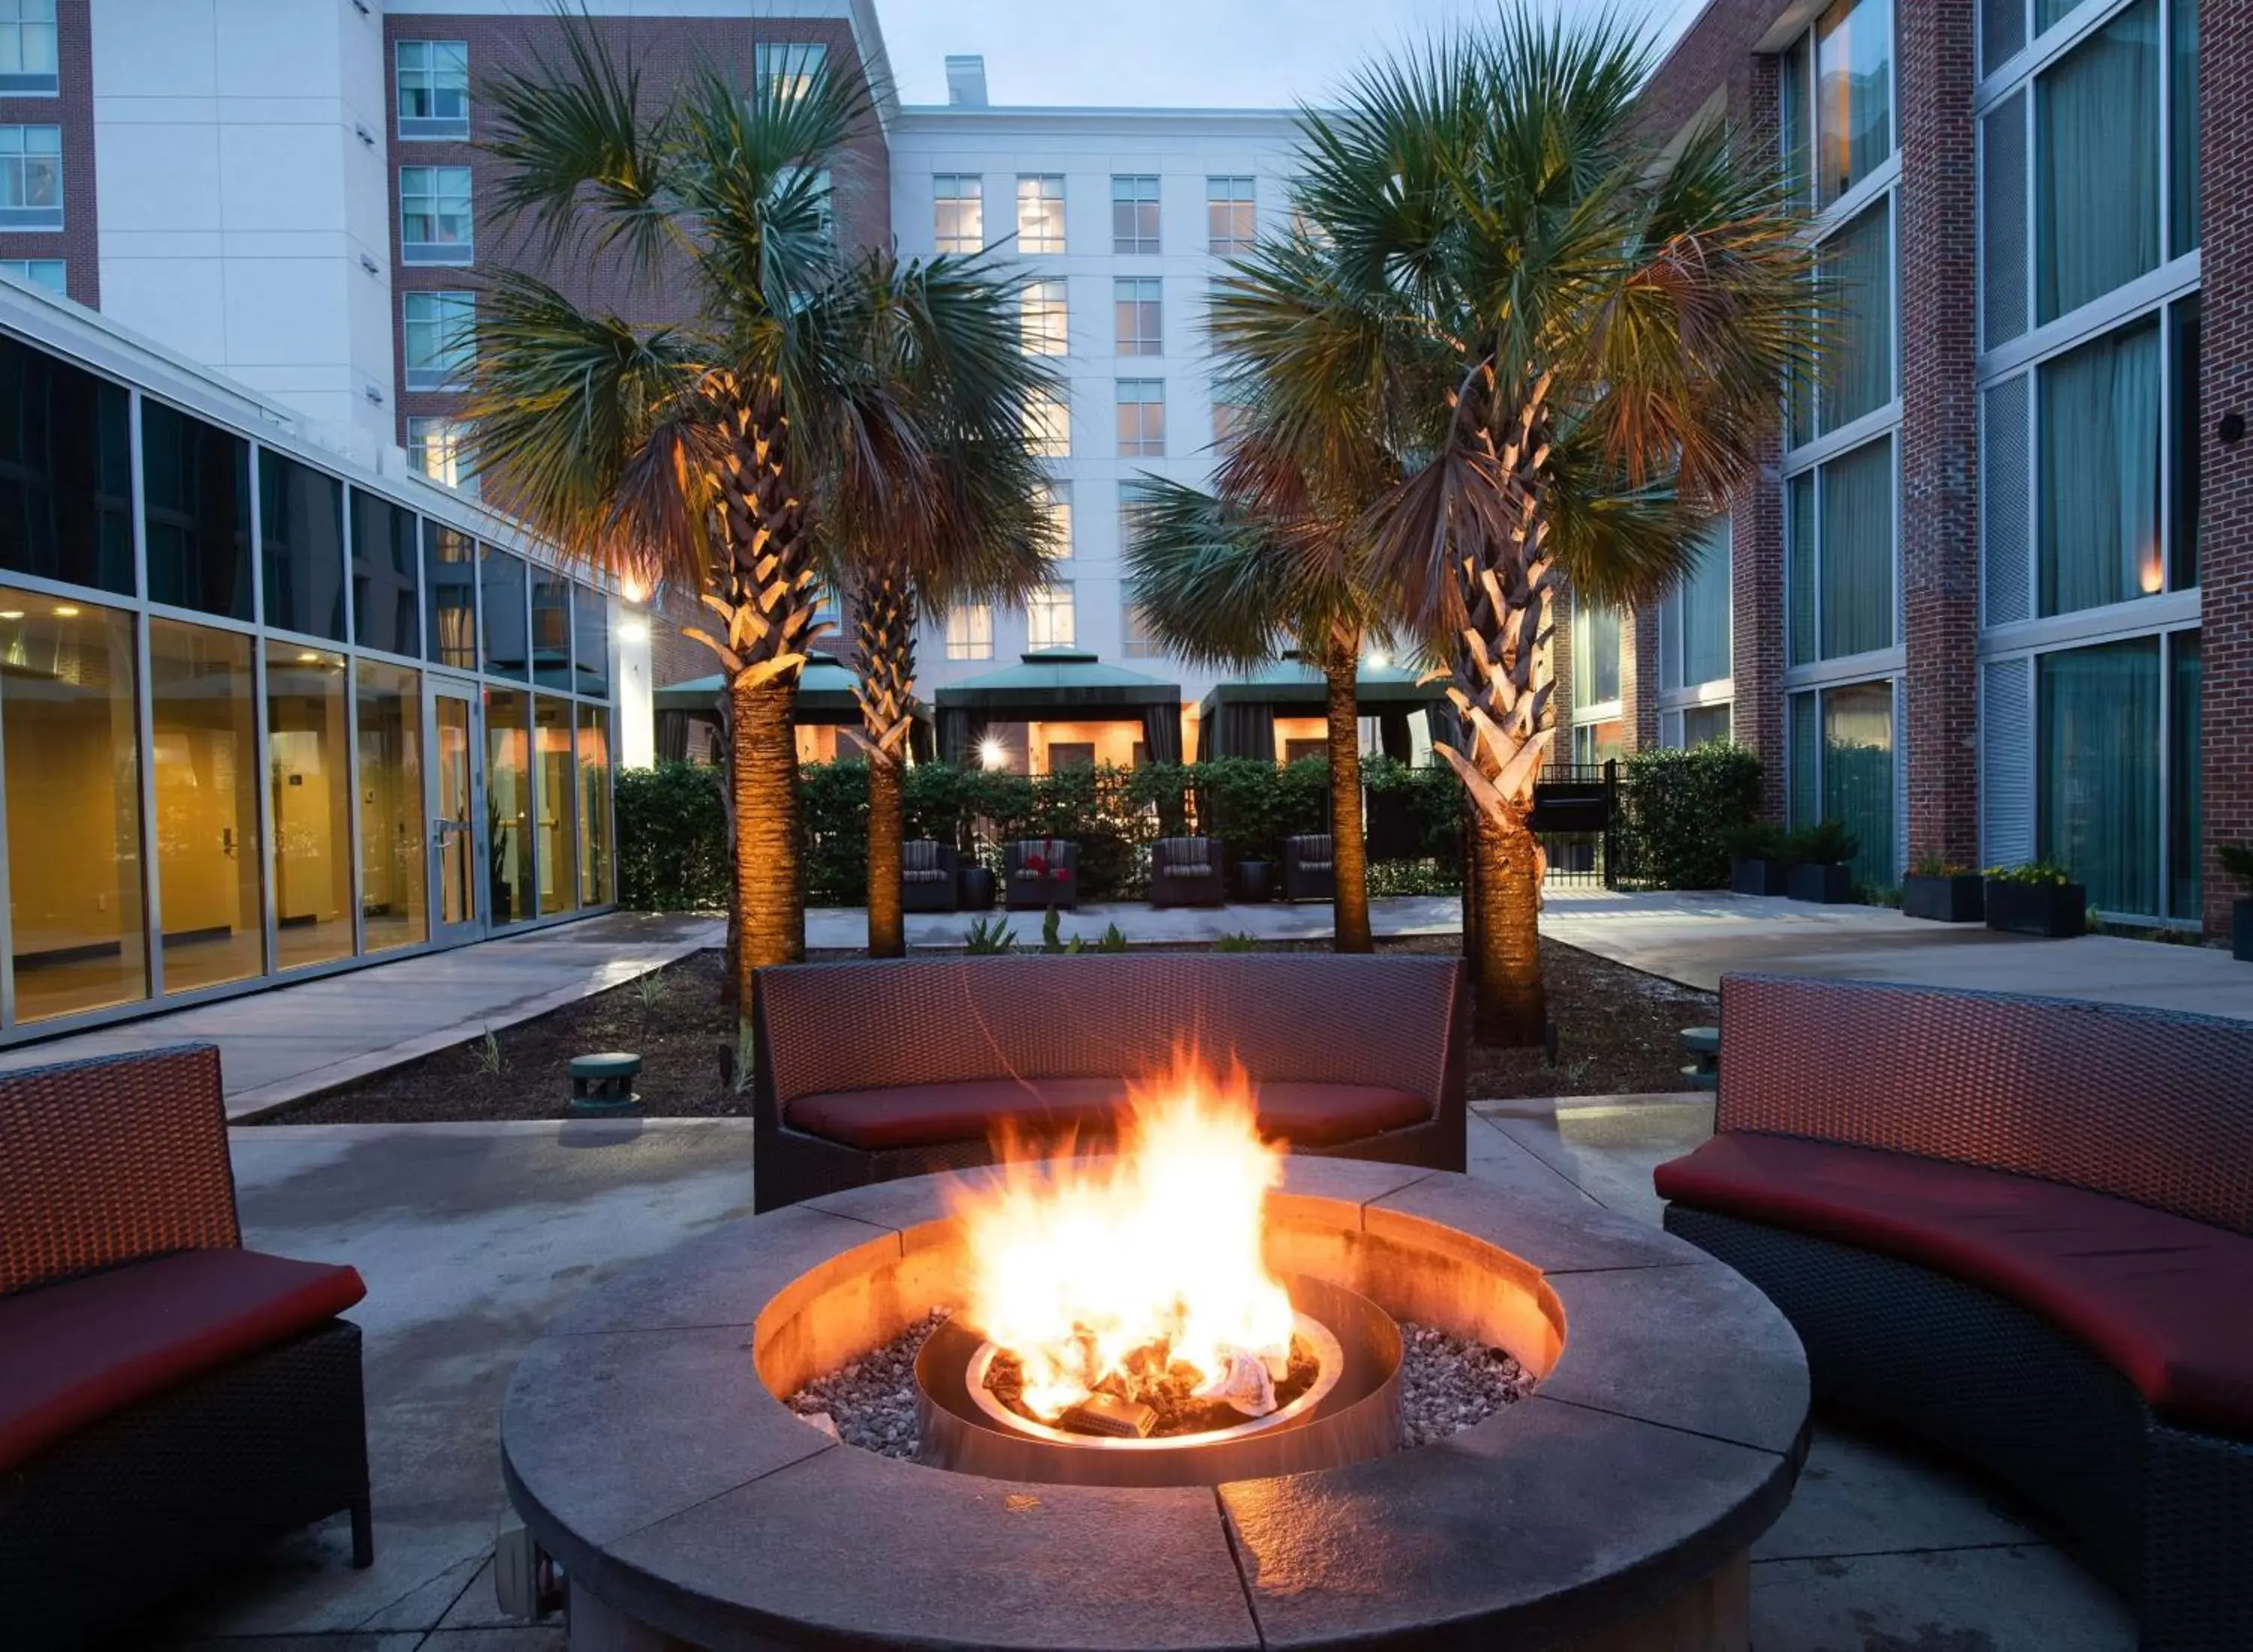
<svg viewBox="0 0 2253 1652">
<path fill-rule="evenodd" d="M 351 1515 L 374 1560 L 349 1267 L 241 1249 L 219 1050 L 0 1075 L 0 1618 L 86 1645 Z"/>
</svg>

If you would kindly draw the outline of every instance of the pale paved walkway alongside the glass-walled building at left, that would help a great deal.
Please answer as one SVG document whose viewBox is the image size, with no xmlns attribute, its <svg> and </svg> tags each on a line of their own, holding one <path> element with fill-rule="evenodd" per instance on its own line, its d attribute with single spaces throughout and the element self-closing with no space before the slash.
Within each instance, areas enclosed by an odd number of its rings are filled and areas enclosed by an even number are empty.
<svg viewBox="0 0 2253 1652">
<path fill-rule="evenodd" d="M 158 1043 L 219 1046 L 228 1118 L 529 1021 L 721 944 L 712 917 L 608 913 L 0 1053 L 0 1071 Z"/>
</svg>

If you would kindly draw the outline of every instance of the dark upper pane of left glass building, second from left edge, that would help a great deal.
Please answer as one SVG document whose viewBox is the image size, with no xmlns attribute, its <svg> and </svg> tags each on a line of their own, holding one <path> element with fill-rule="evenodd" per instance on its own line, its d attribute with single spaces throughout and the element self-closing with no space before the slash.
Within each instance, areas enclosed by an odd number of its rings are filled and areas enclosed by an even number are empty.
<svg viewBox="0 0 2253 1652">
<path fill-rule="evenodd" d="M 250 618 L 250 444 L 142 399 L 149 597 Z"/>
</svg>

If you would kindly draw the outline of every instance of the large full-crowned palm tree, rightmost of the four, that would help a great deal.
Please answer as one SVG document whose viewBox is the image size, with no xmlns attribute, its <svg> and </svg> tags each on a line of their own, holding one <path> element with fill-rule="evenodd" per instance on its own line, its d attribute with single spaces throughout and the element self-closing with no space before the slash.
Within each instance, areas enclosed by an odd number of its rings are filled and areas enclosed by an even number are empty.
<svg viewBox="0 0 2253 1652">
<path fill-rule="evenodd" d="M 1636 122 L 1620 23 L 1521 7 L 1302 115 L 1298 237 L 1214 300 L 1259 385 L 1223 491 L 1361 478 L 1401 627 L 1449 663 L 1471 798 L 1478 1032 L 1539 1043 L 1555 602 L 1660 595 L 1773 439 L 1818 322 L 1805 223 L 1719 126 Z"/>
</svg>

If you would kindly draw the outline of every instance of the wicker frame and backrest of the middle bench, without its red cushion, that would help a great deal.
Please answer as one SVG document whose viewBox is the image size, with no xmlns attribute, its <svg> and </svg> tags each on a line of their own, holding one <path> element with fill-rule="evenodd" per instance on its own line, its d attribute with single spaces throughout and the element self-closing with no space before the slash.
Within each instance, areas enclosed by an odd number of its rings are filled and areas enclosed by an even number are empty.
<svg viewBox="0 0 2253 1652">
<path fill-rule="evenodd" d="M 1318 1152 L 1464 1167 L 1453 958 L 1160 953 L 915 958 L 762 969 L 753 989 L 759 1210 L 991 1163 L 985 1140 L 870 1152 L 791 1129 L 802 1095 L 994 1077 L 1145 1077 L 1178 1048 L 1246 1075 L 1428 1098 L 1424 1122 Z"/>
</svg>

